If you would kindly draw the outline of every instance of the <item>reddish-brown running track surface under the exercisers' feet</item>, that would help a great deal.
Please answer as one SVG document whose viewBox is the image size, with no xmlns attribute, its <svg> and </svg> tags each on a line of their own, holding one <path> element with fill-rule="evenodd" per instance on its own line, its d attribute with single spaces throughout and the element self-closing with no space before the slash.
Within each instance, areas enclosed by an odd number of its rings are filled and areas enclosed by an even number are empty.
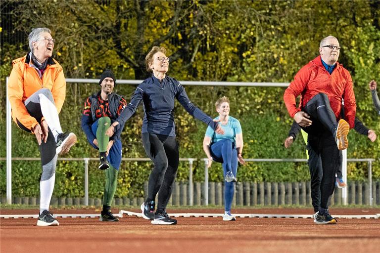
<svg viewBox="0 0 380 253">
<path fill-rule="evenodd" d="M 139 209 L 123 208 L 138 212 Z M 35 214 L 36 210 L 0 210 Z M 95 209 L 52 209 L 53 213 L 99 213 Z M 119 210 L 112 210 L 118 213 Z M 172 213 L 221 213 L 223 209 L 168 209 Z M 311 214 L 311 209 L 234 209 L 233 213 Z M 333 214 L 368 215 L 380 209 L 334 209 Z M 38 227 L 32 218 L 0 219 L 1 253 L 375 253 L 380 248 L 380 219 L 338 219 L 315 225 L 303 218 L 179 217 L 177 225 L 151 225 L 126 216 L 119 222 L 98 218 L 59 218 L 59 226 Z"/>
</svg>

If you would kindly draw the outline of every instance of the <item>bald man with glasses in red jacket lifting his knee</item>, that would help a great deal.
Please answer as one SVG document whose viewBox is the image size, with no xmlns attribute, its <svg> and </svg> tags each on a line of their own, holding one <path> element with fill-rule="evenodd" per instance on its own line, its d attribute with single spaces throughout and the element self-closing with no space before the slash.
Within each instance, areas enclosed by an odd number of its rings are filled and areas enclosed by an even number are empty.
<svg viewBox="0 0 380 253">
<path fill-rule="evenodd" d="M 311 198 L 316 224 L 337 224 L 329 213 L 328 202 L 334 191 L 339 150 L 348 147 L 347 134 L 355 125 L 352 79 L 337 62 L 339 52 L 340 45 L 335 37 L 324 38 L 319 47 L 320 55 L 298 71 L 284 93 L 290 116 L 308 133 Z M 301 101 L 297 107 L 295 99 L 299 95 Z M 340 119 L 342 99 L 347 121 Z"/>
</svg>

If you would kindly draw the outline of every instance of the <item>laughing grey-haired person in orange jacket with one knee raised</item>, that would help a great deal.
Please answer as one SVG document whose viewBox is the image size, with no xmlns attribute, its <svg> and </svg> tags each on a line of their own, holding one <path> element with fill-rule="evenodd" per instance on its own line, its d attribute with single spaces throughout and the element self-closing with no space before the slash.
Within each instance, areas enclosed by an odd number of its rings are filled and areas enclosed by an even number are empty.
<svg viewBox="0 0 380 253">
<path fill-rule="evenodd" d="M 62 132 L 58 113 L 66 96 L 62 67 L 51 55 L 55 40 L 48 28 L 29 34 L 31 51 L 13 61 L 8 83 L 12 118 L 18 127 L 35 134 L 42 163 L 38 226 L 59 225 L 49 212 L 57 156 L 69 152 L 77 137 Z"/>
</svg>

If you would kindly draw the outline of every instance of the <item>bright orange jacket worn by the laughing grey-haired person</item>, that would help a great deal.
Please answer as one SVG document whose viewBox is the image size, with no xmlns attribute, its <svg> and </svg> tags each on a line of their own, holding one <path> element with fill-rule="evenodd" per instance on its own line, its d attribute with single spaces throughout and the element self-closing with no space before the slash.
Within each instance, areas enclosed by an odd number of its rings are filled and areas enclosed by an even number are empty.
<svg viewBox="0 0 380 253">
<path fill-rule="evenodd" d="M 12 119 L 19 121 L 24 127 L 33 132 L 37 120 L 30 116 L 24 101 L 41 88 L 47 88 L 53 94 L 55 107 L 61 111 L 66 96 L 66 81 L 62 66 L 53 58 L 48 59 L 47 68 L 40 78 L 37 70 L 30 66 L 29 53 L 13 60 L 13 69 L 8 80 L 8 99 L 12 108 Z"/>
</svg>

